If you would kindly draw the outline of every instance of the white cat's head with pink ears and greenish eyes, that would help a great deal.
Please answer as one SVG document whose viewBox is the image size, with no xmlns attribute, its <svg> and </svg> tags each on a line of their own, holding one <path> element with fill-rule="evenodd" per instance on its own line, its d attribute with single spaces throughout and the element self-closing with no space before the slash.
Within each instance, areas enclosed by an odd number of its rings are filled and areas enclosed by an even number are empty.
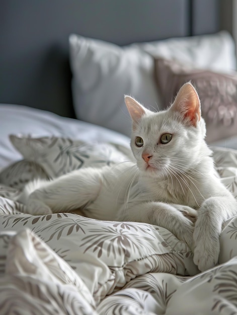
<svg viewBox="0 0 237 315">
<path fill-rule="evenodd" d="M 145 174 L 163 178 L 182 173 L 208 151 L 200 100 L 190 83 L 181 87 L 165 111 L 151 112 L 129 96 L 125 103 L 132 118 L 131 148 Z"/>
</svg>

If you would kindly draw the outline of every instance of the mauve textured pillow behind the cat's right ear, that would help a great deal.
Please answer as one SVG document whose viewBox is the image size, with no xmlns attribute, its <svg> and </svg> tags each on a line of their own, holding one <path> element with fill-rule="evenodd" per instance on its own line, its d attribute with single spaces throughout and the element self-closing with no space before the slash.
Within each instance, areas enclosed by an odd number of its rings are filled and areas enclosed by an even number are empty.
<svg viewBox="0 0 237 315">
<path fill-rule="evenodd" d="M 197 89 L 208 143 L 237 135 L 237 74 L 194 69 L 175 60 L 155 59 L 157 88 L 168 106 L 180 87 L 191 81 Z"/>
</svg>

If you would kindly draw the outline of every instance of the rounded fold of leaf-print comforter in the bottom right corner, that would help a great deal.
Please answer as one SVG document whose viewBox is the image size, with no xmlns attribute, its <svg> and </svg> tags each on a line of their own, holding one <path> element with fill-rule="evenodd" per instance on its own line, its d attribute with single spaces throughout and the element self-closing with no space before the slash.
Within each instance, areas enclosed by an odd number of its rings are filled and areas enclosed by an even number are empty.
<svg viewBox="0 0 237 315">
<path fill-rule="evenodd" d="M 166 314 L 236 314 L 236 283 L 235 257 L 179 286 L 167 305 Z"/>
</svg>

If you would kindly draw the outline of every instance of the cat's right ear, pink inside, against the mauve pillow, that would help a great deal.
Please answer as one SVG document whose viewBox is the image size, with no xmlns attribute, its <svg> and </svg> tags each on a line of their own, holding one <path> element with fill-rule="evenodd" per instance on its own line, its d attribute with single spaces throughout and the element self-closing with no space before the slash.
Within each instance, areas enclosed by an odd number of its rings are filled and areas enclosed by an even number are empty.
<svg viewBox="0 0 237 315">
<path fill-rule="evenodd" d="M 191 83 L 185 83 L 180 88 L 171 110 L 180 112 L 191 125 L 197 126 L 201 119 L 201 104 L 198 94 Z"/>
</svg>

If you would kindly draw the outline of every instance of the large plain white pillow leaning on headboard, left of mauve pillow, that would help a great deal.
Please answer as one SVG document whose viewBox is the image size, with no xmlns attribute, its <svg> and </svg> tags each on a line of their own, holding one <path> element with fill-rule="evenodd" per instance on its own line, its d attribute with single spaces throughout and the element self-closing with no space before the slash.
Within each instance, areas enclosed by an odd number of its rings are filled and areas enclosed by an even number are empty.
<svg viewBox="0 0 237 315">
<path fill-rule="evenodd" d="M 122 48 L 78 35 L 69 37 L 69 46 L 77 118 L 130 136 L 124 94 L 146 106 L 160 103 L 153 80 L 153 58 L 137 47 Z"/>
</svg>

